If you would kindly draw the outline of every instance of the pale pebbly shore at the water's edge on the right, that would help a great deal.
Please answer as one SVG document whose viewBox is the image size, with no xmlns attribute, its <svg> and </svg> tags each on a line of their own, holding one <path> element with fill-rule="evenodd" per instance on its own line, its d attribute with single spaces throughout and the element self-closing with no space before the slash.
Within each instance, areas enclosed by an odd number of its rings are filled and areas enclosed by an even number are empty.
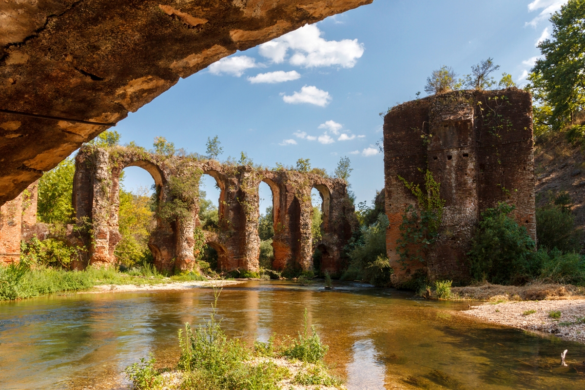
<svg viewBox="0 0 585 390">
<path fill-rule="evenodd" d="M 486 322 L 551 333 L 565 340 L 585 343 L 585 299 L 512 301 L 471 306 L 463 315 Z"/>
</svg>

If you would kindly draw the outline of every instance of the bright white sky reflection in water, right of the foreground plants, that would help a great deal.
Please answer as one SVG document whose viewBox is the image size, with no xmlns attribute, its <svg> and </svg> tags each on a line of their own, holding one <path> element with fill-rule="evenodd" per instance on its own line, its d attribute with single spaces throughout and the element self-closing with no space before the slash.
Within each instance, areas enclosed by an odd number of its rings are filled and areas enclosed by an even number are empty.
<svg viewBox="0 0 585 390">
<path fill-rule="evenodd" d="M 376 360 L 377 353 L 370 339 L 358 340 L 353 344 L 352 363 L 347 364 L 348 390 L 384 390 L 386 367 Z"/>
</svg>

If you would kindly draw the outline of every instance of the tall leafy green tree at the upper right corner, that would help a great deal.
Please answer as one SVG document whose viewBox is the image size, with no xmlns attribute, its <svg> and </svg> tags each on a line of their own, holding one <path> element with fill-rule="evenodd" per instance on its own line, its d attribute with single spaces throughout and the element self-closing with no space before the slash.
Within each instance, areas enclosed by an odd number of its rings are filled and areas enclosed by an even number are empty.
<svg viewBox="0 0 585 390">
<path fill-rule="evenodd" d="M 538 45 L 544 58 L 536 60 L 528 80 L 542 90 L 552 107 L 552 127 L 559 130 L 585 107 L 585 0 L 569 0 L 550 22 L 552 39 Z"/>
</svg>

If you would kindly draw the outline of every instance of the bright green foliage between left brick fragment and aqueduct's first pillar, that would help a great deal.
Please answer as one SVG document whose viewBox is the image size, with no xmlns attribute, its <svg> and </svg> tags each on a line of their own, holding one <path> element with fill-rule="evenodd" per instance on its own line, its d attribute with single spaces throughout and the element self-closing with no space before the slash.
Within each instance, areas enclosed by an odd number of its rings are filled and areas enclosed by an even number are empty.
<svg viewBox="0 0 585 390">
<path fill-rule="evenodd" d="M 75 161 L 66 158 L 40 178 L 37 203 L 37 218 L 40 222 L 71 222 L 74 174 Z"/>
</svg>

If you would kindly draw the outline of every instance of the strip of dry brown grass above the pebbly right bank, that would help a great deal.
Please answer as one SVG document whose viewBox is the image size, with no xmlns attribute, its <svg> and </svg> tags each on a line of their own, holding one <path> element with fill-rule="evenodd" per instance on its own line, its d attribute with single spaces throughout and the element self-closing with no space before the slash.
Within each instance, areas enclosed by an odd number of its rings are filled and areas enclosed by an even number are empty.
<svg viewBox="0 0 585 390">
<path fill-rule="evenodd" d="M 585 288 L 570 284 L 545 284 L 535 282 L 525 286 L 503 286 L 498 284 L 477 284 L 467 287 L 453 287 L 452 299 L 472 301 L 542 301 L 544 299 L 583 299 Z"/>
</svg>

